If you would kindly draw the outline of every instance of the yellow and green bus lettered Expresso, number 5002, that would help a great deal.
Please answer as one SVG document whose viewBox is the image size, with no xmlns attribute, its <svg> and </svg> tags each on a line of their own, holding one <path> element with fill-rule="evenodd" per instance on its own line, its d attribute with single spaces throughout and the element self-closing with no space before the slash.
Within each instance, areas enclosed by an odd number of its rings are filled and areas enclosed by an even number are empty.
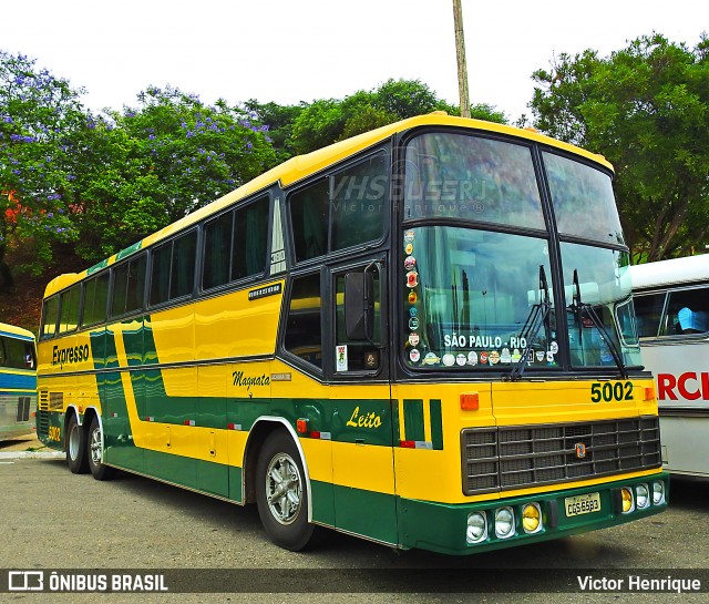
<svg viewBox="0 0 709 604">
<path fill-rule="evenodd" d="M 291 158 L 51 281 L 38 433 L 114 469 L 450 554 L 661 512 L 599 155 L 431 114 Z"/>
</svg>

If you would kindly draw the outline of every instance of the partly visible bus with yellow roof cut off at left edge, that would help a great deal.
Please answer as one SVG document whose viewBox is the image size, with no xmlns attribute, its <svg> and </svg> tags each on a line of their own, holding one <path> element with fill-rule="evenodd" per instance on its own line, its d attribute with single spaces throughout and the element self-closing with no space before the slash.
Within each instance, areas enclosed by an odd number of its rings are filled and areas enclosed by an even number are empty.
<svg viewBox="0 0 709 604">
<path fill-rule="evenodd" d="M 34 433 L 35 364 L 34 334 L 0 323 L 0 440 Z"/>
</svg>

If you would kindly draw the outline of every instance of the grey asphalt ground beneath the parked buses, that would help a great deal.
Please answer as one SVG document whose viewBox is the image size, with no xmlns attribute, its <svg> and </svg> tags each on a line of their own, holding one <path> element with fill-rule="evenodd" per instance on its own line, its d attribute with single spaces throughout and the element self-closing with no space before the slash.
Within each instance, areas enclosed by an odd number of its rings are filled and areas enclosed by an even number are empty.
<svg viewBox="0 0 709 604">
<path fill-rule="evenodd" d="M 267 540 L 255 506 L 240 508 L 125 473 L 110 482 L 97 482 L 90 474 L 71 474 L 63 460 L 47 454 L 10 455 L 0 454 L 3 515 L 0 569 L 47 573 L 69 569 L 84 573 L 137 569 L 146 574 L 195 569 L 197 573 L 178 582 L 185 591 L 225 592 L 112 594 L 112 603 L 623 601 L 625 604 L 709 598 L 708 482 L 674 481 L 671 504 L 662 514 L 506 551 L 466 557 L 397 552 L 326 531 L 315 550 L 291 553 Z M 229 569 L 237 571 L 227 572 Z M 618 594 L 597 590 L 573 594 L 558 588 L 559 582 L 576 582 L 576 576 L 603 579 L 656 571 L 661 571 L 658 576 L 700 579 L 705 592 Z M 168 577 L 174 585 L 175 575 Z M 477 581 L 481 590 L 471 588 Z M 460 590 L 463 593 L 455 593 L 459 586 L 464 587 Z M 249 588 L 256 593 L 243 593 Z M 2 602 L 95 602 L 99 597 L 105 596 L 0 594 Z"/>
</svg>

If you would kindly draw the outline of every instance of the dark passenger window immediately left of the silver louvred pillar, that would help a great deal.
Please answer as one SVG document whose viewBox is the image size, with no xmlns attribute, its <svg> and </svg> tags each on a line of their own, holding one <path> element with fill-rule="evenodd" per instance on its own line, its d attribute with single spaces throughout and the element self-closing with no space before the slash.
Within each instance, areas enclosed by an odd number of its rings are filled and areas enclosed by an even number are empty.
<svg viewBox="0 0 709 604">
<path fill-rule="evenodd" d="M 269 205 L 268 197 L 264 197 L 235 211 L 232 280 L 260 275 L 266 270 Z"/>
</svg>

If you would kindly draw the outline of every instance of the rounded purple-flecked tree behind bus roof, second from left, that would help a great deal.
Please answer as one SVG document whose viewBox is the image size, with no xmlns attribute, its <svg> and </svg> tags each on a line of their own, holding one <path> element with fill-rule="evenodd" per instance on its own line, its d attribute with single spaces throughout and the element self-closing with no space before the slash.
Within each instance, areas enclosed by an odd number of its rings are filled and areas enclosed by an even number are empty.
<svg viewBox="0 0 709 604">
<path fill-rule="evenodd" d="M 218 101 L 148 88 L 137 108 L 96 121 L 73 208 L 78 252 L 99 259 L 182 218 L 270 167 L 267 126 Z"/>
</svg>

